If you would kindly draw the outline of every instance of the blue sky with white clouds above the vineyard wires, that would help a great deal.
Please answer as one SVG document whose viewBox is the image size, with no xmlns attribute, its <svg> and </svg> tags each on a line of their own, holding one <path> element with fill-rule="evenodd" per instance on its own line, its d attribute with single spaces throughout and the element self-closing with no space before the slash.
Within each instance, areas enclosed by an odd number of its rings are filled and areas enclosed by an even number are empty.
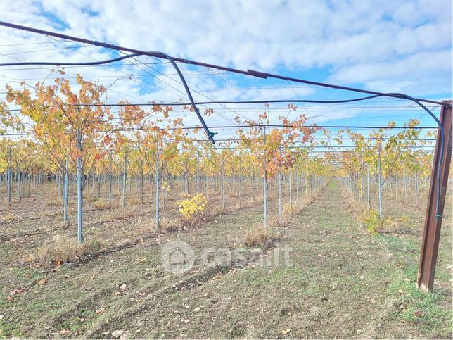
<svg viewBox="0 0 453 340">
<path fill-rule="evenodd" d="M 4 0 L 0 20 L 205 63 L 279 73 L 379 92 L 452 99 L 452 1 L 111 1 Z M 0 63 L 99 61 L 118 53 L 0 27 Z M 108 66 L 66 68 L 68 76 L 113 84 L 106 102 L 175 102 L 187 97 L 168 63 L 140 57 Z M 348 99 L 357 93 L 262 80 L 179 64 L 196 101 Z M 52 82 L 49 68 L 0 67 L 4 85 Z M 120 79 L 119 79 L 120 78 Z M 119 80 L 118 80 L 119 79 Z M 272 104 L 272 120 L 288 113 Z M 438 107 L 429 106 L 438 113 Z M 256 118 L 263 105 L 214 106 L 208 125 Z M 204 107 L 201 107 L 202 111 Z M 297 114 L 324 125 L 385 125 L 419 118 L 413 103 L 373 99 L 357 104 L 298 104 Z M 193 114 L 187 124 L 197 124 Z M 224 137 L 230 132 L 218 130 Z"/>
</svg>

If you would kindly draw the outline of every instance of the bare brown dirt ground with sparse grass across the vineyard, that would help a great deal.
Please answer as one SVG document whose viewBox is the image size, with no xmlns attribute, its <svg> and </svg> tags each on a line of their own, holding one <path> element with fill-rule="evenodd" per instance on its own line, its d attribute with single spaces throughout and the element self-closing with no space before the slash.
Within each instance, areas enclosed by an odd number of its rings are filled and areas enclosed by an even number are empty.
<svg viewBox="0 0 453 340">
<path fill-rule="evenodd" d="M 338 185 L 330 182 L 300 215 L 272 227 L 277 243 L 257 249 L 243 237 L 262 223 L 259 202 L 160 234 L 149 227 L 149 203 L 122 216 L 89 202 L 86 237 L 103 237 L 103 250 L 51 268 L 27 256 L 75 227 L 62 229 L 60 206 L 32 195 L 1 211 L 0 337 L 452 338 L 451 204 L 435 291 L 427 294 L 416 289 L 424 208 L 386 199 L 398 227 L 373 236 Z M 71 213 L 74 220 L 73 206 Z M 171 202 L 163 215 L 175 219 Z M 193 267 L 181 274 L 161 260 L 176 240 L 193 248 Z M 241 249 L 242 260 L 220 261 L 219 248 Z M 218 263 L 203 263 L 206 249 Z"/>
</svg>

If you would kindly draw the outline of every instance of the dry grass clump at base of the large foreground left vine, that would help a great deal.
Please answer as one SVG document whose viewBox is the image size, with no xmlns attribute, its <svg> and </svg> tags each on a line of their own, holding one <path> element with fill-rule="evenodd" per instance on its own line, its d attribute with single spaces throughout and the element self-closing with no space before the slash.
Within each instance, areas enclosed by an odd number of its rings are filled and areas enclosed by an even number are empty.
<svg viewBox="0 0 453 340">
<path fill-rule="evenodd" d="M 47 242 L 44 247 L 37 248 L 32 260 L 42 265 L 60 265 L 73 262 L 88 253 L 99 251 L 103 246 L 103 241 L 93 237 L 84 241 L 84 244 L 78 244 L 76 238 L 58 235 Z"/>
</svg>

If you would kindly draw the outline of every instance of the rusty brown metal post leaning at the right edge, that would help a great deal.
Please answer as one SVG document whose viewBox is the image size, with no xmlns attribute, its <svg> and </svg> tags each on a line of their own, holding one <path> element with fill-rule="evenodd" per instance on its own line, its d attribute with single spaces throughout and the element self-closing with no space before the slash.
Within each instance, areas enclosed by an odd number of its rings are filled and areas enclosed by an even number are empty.
<svg viewBox="0 0 453 340">
<path fill-rule="evenodd" d="M 442 215 L 445 204 L 445 193 L 447 191 L 448 173 L 450 159 L 452 158 L 452 101 L 444 101 L 449 106 L 442 106 L 440 111 L 440 122 L 445 130 L 445 149 L 440 168 L 440 210 Z M 436 218 L 436 193 L 438 191 L 438 165 L 440 157 L 440 131 L 435 144 L 433 172 L 431 173 L 430 190 L 428 195 L 428 206 L 426 208 L 425 226 L 423 228 L 423 239 L 421 241 L 419 276 L 417 277 L 417 287 L 424 291 L 433 290 L 435 263 L 438 259 L 438 248 L 440 238 L 440 227 L 442 226 L 442 216 Z"/>
</svg>

